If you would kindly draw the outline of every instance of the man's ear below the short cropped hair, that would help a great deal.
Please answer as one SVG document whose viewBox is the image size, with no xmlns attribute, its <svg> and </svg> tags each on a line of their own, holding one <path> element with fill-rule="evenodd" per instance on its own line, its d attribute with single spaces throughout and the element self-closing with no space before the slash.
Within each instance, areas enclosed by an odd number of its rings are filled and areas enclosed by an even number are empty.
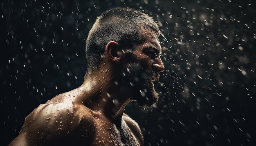
<svg viewBox="0 0 256 146">
<path fill-rule="evenodd" d="M 108 42 L 106 45 L 106 54 L 112 62 L 120 63 L 121 53 L 119 49 L 119 44 L 114 41 Z"/>
</svg>

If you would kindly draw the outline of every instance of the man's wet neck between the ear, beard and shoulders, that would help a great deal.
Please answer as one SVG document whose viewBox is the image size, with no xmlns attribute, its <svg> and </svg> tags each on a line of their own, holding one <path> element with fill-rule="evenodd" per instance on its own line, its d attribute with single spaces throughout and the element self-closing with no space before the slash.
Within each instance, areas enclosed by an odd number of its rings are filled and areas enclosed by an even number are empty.
<svg viewBox="0 0 256 146">
<path fill-rule="evenodd" d="M 117 81 L 110 68 L 103 66 L 102 69 L 101 66 L 98 73 L 86 75 L 79 87 L 83 91 L 83 104 L 92 111 L 105 115 L 110 122 L 121 122 L 124 108 L 131 101 L 127 89 Z"/>
</svg>

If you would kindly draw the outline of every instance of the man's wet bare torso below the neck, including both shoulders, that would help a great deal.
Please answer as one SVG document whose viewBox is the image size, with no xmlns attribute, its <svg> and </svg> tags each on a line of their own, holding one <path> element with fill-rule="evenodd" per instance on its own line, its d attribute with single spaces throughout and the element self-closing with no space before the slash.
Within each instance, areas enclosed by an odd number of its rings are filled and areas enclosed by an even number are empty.
<svg viewBox="0 0 256 146">
<path fill-rule="evenodd" d="M 119 132 L 101 111 L 92 111 L 77 100 L 83 89 L 60 94 L 41 104 L 25 119 L 20 135 L 10 145 L 121 145 Z M 136 122 L 123 115 L 125 129 L 142 145 L 143 136 Z M 127 126 L 123 126 L 126 127 Z"/>
</svg>

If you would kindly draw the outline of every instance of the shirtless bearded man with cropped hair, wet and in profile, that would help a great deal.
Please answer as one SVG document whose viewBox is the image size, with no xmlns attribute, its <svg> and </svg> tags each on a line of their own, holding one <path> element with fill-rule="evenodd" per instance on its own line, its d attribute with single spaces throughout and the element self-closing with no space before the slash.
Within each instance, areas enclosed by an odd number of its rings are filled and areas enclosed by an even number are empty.
<svg viewBox="0 0 256 146">
<path fill-rule="evenodd" d="M 128 102 L 158 101 L 153 81 L 164 71 L 157 24 L 145 13 L 115 8 L 101 14 L 86 44 L 83 84 L 41 104 L 25 119 L 16 146 L 142 146 Z"/>
</svg>

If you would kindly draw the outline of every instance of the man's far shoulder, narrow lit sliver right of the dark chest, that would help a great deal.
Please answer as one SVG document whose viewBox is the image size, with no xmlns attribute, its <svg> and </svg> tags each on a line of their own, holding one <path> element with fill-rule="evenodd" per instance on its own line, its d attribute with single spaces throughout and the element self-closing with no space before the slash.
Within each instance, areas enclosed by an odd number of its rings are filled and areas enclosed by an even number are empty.
<svg viewBox="0 0 256 146">
<path fill-rule="evenodd" d="M 135 137 L 139 139 L 139 141 L 141 142 L 141 145 L 144 145 L 144 138 L 143 138 L 141 129 L 139 128 L 139 124 L 125 113 L 122 118 L 130 128 L 132 133 L 135 135 Z"/>
</svg>

